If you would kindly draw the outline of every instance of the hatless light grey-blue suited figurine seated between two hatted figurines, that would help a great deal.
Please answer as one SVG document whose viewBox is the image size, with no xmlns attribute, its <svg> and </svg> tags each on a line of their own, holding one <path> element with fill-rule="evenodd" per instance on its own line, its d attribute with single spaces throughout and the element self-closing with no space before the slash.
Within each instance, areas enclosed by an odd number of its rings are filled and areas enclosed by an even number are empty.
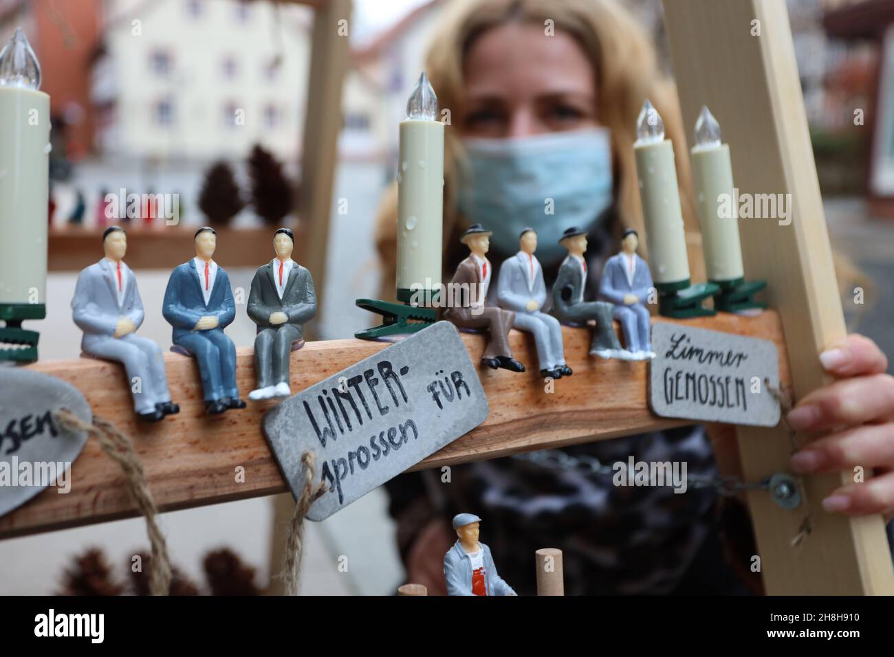
<svg viewBox="0 0 894 657">
<path fill-rule="evenodd" d="M 513 328 L 534 336 L 540 375 L 561 379 L 572 373 L 565 364 L 559 320 L 541 312 L 546 303 L 546 283 L 543 267 L 534 255 L 536 248 L 537 233 L 533 228 L 524 229 L 519 235 L 519 252 L 500 266 L 497 303 L 515 311 Z"/>
</svg>

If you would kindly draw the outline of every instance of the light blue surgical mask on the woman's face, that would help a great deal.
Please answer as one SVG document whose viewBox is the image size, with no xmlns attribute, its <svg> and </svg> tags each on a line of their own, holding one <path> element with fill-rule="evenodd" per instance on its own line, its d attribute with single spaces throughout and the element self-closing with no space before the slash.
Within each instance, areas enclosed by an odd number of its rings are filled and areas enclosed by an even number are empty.
<svg viewBox="0 0 894 657">
<path fill-rule="evenodd" d="M 468 166 L 460 178 L 459 209 L 468 223 L 493 232 L 502 254 L 519 249 L 519 233 L 537 232 L 544 264 L 565 255 L 562 232 L 586 232 L 611 206 L 611 136 L 605 128 L 549 132 L 510 139 L 465 139 Z"/>
</svg>

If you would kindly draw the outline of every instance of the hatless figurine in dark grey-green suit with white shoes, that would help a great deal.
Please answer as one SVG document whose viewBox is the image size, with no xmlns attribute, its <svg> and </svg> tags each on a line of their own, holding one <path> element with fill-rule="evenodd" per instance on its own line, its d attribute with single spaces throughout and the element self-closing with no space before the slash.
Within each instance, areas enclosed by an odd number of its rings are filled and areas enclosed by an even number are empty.
<svg viewBox="0 0 894 657">
<path fill-rule="evenodd" d="M 292 345 L 304 343 L 304 324 L 316 315 L 314 279 L 291 259 L 295 236 L 288 228 L 274 232 L 276 257 L 257 268 L 249 292 L 249 317 L 257 324 L 257 389 L 249 400 L 288 397 Z"/>
</svg>

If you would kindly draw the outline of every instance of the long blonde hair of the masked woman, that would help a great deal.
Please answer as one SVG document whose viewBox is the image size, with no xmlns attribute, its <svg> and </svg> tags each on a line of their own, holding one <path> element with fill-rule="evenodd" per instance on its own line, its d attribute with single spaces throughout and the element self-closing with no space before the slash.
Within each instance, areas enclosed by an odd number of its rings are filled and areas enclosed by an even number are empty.
<svg viewBox="0 0 894 657">
<path fill-rule="evenodd" d="M 648 236 L 643 228 L 633 143 L 637 116 L 645 99 L 652 100 L 662 115 L 667 136 L 674 142 L 677 154 L 687 242 L 693 247 L 689 259 L 696 265 L 692 277 L 696 281 L 704 280 L 704 265 L 698 248 L 701 238 L 691 198 L 688 151 L 676 90 L 659 72 L 654 48 L 645 32 L 616 0 L 453 0 L 445 7 L 426 56 L 426 75 L 438 96 L 438 104 L 451 112 L 452 125 L 448 126 L 444 138 L 444 248 L 455 248 L 455 238 L 465 227 L 457 214 L 455 198 L 457 163 L 461 158 L 458 132 L 461 131 L 461 117 L 465 114 L 462 71 L 466 51 L 485 31 L 509 21 L 543 25 L 544 29 L 551 24 L 556 32 L 575 38 L 592 63 L 597 88 L 596 115 L 611 131 L 615 205 L 619 218 L 618 224 L 612 227 L 613 232 L 620 239 L 624 228 L 636 229 L 644 236 L 640 241 L 644 255 Z M 390 286 L 392 295 L 396 225 L 397 190 L 396 185 L 392 185 L 379 208 L 376 230 L 376 244 L 385 265 L 383 290 L 388 291 Z"/>
</svg>

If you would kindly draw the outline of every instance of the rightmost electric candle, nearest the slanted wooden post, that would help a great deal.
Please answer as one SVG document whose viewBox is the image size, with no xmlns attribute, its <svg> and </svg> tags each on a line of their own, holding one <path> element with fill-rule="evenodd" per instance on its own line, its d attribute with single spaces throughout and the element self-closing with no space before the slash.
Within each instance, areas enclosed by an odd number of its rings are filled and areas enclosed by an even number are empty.
<svg viewBox="0 0 894 657">
<path fill-rule="evenodd" d="M 732 202 L 730 147 L 721 142 L 720 125 L 707 107 L 702 107 L 696 121 L 692 173 L 708 280 L 726 282 L 741 279 L 745 276 L 745 270 L 738 237 L 737 208 Z M 725 208 L 730 208 L 730 213 L 725 213 Z"/>
</svg>

